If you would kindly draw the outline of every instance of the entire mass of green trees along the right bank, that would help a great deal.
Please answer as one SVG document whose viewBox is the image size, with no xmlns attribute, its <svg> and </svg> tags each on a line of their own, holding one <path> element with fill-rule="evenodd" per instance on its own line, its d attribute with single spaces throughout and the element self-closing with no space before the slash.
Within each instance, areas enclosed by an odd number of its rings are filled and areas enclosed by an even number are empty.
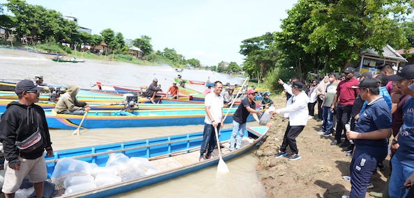
<svg viewBox="0 0 414 198">
<path fill-rule="evenodd" d="M 367 49 L 414 47 L 414 1 L 299 0 L 281 31 L 243 40 L 243 69 L 277 87 L 277 79 L 327 74 L 358 65 Z"/>
</svg>

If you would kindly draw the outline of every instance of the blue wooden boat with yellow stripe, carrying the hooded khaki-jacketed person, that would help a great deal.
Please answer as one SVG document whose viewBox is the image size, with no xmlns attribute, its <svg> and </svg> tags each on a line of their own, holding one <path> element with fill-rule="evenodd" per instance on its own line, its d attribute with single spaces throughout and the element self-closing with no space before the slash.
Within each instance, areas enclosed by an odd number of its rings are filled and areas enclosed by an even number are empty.
<svg viewBox="0 0 414 198">
<path fill-rule="evenodd" d="M 228 108 L 223 109 L 227 113 Z M 224 123 L 233 122 L 236 108 L 229 110 Z M 49 128 L 77 129 L 82 115 L 56 114 L 54 110 L 45 111 Z M 90 110 L 82 127 L 86 129 L 145 127 L 145 126 L 177 126 L 188 124 L 204 124 L 206 110 Z M 247 121 L 254 120 L 252 115 Z"/>
</svg>

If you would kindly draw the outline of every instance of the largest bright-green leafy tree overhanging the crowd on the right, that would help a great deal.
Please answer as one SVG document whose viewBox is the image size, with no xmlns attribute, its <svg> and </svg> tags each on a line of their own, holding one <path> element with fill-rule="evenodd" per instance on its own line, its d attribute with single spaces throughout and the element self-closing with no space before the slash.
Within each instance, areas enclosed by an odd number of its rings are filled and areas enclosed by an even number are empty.
<svg viewBox="0 0 414 198">
<path fill-rule="evenodd" d="M 386 44 L 406 46 L 399 22 L 411 13 L 409 0 L 300 0 L 275 33 L 283 52 L 278 65 L 298 74 L 347 67 L 362 51 L 382 51 Z M 391 16 L 391 17 L 390 17 Z"/>
</svg>

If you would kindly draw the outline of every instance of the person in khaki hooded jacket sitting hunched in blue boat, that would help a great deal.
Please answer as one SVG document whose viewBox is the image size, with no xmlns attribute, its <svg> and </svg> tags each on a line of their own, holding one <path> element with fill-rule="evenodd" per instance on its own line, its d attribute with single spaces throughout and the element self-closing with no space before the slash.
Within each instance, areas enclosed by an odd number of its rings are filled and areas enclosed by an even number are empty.
<svg viewBox="0 0 414 198">
<path fill-rule="evenodd" d="M 79 85 L 68 85 L 68 90 L 64 93 L 54 107 L 54 111 L 59 114 L 84 115 L 89 112 L 91 107 L 86 102 L 79 102 L 76 99 L 79 92 Z"/>
</svg>

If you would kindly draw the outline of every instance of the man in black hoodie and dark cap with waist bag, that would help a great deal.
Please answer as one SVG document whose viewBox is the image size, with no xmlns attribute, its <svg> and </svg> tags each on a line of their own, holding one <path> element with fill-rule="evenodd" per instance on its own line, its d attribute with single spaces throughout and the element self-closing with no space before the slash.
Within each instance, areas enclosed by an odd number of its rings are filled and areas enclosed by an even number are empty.
<svg viewBox="0 0 414 198">
<path fill-rule="evenodd" d="M 52 142 L 46 122 L 45 111 L 34 104 L 39 101 L 38 88 L 33 81 L 17 83 L 15 93 L 19 101 L 12 101 L 1 116 L 0 140 L 5 156 L 5 197 L 15 197 L 25 177 L 33 183 L 36 197 L 43 197 L 47 179 L 45 157 L 53 156 Z"/>
</svg>

